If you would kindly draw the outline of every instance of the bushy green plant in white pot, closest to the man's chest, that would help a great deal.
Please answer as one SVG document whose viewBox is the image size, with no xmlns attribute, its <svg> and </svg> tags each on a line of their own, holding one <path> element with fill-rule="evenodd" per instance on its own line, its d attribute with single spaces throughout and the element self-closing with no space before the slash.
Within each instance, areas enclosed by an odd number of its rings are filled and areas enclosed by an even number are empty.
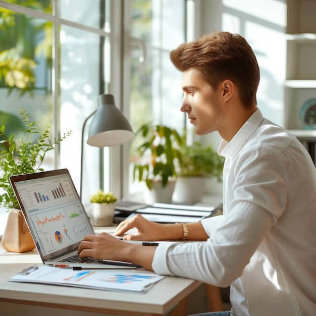
<svg viewBox="0 0 316 316">
<path fill-rule="evenodd" d="M 181 145 L 182 164 L 173 194 L 175 202 L 199 202 L 204 194 L 206 178 L 222 181 L 224 157 L 213 145 L 202 146 L 200 142 Z"/>
</svg>

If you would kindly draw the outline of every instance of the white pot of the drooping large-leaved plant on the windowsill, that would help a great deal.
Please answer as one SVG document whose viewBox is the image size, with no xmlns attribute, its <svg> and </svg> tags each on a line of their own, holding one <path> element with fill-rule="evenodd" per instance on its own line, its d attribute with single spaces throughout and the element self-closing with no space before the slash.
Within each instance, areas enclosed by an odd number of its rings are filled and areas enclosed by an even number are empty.
<svg viewBox="0 0 316 316">
<path fill-rule="evenodd" d="M 172 194 L 175 188 L 175 181 L 168 181 L 168 183 L 163 187 L 162 182 L 152 181 L 151 190 L 149 190 L 143 182 L 144 185 L 144 202 L 146 204 L 153 203 L 171 203 Z"/>
</svg>

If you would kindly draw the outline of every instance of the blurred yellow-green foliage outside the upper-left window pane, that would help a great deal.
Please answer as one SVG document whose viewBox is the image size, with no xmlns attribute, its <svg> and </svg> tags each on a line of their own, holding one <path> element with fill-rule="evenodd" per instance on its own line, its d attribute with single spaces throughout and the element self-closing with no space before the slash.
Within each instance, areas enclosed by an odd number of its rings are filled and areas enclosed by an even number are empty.
<svg viewBox="0 0 316 316">
<path fill-rule="evenodd" d="M 11 0 L 13 4 L 51 13 L 49 0 Z M 9 87 L 9 94 L 18 89 L 20 95 L 33 95 L 35 69 L 43 54 L 46 67 L 51 64 L 52 25 L 39 19 L 0 8 L 0 87 Z M 36 39 L 43 35 L 41 42 Z"/>
</svg>

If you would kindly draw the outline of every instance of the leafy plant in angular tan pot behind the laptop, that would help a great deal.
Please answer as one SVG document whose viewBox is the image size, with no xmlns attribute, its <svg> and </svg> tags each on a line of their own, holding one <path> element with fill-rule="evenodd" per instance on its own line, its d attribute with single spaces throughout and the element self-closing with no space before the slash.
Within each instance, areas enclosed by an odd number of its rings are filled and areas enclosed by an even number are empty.
<svg viewBox="0 0 316 316">
<path fill-rule="evenodd" d="M 8 209 L 9 217 L 6 230 L 2 238 L 2 246 L 9 251 L 25 252 L 34 249 L 35 245 L 28 227 L 25 223 L 23 214 L 20 210 L 18 200 L 10 184 L 10 177 L 13 175 L 33 173 L 43 171 L 41 164 L 47 151 L 59 144 L 71 131 L 63 137 L 49 138 L 48 126 L 41 135 L 33 140 L 39 133 L 37 122 L 31 122 L 31 115 L 20 109 L 22 122 L 25 124 L 27 140 L 22 137 L 15 139 L 15 135 L 6 134 L 6 126 L 0 125 L 0 143 L 5 145 L 0 152 L 0 188 L 4 193 L 0 194 L 0 206 Z"/>
</svg>

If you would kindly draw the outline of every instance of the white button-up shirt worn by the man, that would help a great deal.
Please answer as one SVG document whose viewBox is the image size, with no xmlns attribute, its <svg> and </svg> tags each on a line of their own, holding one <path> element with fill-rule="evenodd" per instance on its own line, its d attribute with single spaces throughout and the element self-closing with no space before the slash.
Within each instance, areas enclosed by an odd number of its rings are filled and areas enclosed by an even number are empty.
<svg viewBox="0 0 316 316">
<path fill-rule="evenodd" d="M 205 242 L 159 245 L 153 270 L 231 284 L 235 316 L 316 315 L 316 169 L 308 152 L 259 110 L 218 152 L 224 215 L 202 220 Z"/>
</svg>

